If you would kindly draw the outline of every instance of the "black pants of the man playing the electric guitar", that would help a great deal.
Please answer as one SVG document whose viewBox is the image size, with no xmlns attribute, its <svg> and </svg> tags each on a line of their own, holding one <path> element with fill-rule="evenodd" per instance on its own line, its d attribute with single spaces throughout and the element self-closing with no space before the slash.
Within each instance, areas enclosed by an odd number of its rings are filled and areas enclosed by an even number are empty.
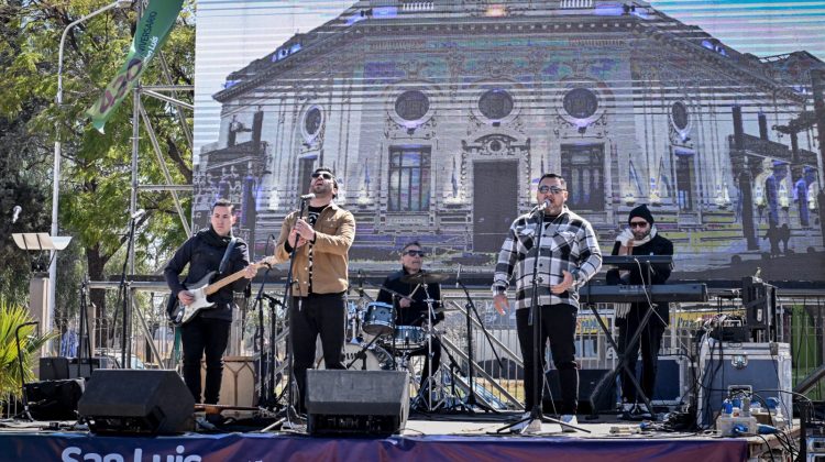
<svg viewBox="0 0 825 462">
<path fill-rule="evenodd" d="M 200 403 L 200 360 L 206 354 L 204 403 L 218 404 L 223 377 L 223 352 L 229 343 L 231 321 L 196 316 L 180 328 L 184 348 L 184 382 L 195 403 Z"/>
</svg>

